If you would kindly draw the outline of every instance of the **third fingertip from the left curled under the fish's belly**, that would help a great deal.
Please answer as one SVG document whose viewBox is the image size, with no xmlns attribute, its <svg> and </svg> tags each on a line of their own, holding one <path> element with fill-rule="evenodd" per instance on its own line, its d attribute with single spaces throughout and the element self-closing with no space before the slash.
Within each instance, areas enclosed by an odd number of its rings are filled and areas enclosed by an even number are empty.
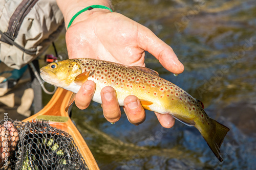
<svg viewBox="0 0 256 170">
<path fill-rule="evenodd" d="M 140 100 L 134 96 L 127 96 L 124 101 L 124 112 L 128 120 L 134 124 L 139 125 L 146 119 L 145 110 L 141 106 Z"/>
</svg>

